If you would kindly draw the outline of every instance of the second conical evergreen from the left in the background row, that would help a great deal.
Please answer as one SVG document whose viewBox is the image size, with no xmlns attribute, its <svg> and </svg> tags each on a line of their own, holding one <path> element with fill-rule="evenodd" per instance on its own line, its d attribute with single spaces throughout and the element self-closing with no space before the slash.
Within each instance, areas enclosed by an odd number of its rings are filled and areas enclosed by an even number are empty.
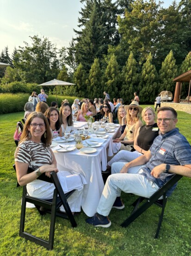
<svg viewBox="0 0 191 256">
<path fill-rule="evenodd" d="M 89 85 L 87 86 L 87 94 L 89 98 L 99 98 L 103 94 L 102 74 L 99 65 L 99 59 L 94 59 L 89 72 Z"/>
</svg>

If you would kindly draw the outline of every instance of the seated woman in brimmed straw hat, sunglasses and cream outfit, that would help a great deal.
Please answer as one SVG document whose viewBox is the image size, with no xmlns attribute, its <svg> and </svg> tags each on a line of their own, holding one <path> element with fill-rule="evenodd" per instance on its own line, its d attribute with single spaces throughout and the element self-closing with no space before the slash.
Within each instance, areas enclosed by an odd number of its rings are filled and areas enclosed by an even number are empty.
<svg viewBox="0 0 191 256">
<path fill-rule="evenodd" d="M 139 106 L 138 102 L 132 101 L 130 105 L 125 105 L 126 114 L 126 126 L 123 134 L 113 140 L 117 143 L 116 147 L 113 147 L 114 153 L 119 150 L 129 150 L 133 151 L 134 140 L 136 138 L 136 133 L 139 127 L 142 126 L 142 121 L 140 120 L 139 113 L 142 112 L 142 107 Z"/>
</svg>

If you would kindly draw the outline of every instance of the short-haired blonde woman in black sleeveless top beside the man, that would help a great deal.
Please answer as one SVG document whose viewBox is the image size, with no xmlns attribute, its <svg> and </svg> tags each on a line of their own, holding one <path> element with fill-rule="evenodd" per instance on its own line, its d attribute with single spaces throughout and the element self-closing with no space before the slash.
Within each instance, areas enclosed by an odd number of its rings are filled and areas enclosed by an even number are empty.
<svg viewBox="0 0 191 256">
<path fill-rule="evenodd" d="M 153 144 L 154 139 L 160 134 L 159 127 L 157 123 L 154 122 L 154 118 L 155 113 L 152 107 L 146 107 L 143 109 L 142 119 L 146 125 L 139 127 L 136 133 L 136 138 L 134 140 L 134 149 L 136 151 L 119 151 L 117 155 L 108 162 L 109 166 L 115 162 L 130 162 L 135 158 L 142 156 L 142 154 L 147 153 Z"/>
</svg>

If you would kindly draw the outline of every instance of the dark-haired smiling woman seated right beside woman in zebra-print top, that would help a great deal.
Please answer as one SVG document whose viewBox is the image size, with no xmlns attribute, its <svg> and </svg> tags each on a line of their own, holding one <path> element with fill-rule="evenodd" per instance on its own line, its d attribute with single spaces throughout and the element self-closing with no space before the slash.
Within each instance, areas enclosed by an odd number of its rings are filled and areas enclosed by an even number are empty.
<svg viewBox="0 0 191 256">
<path fill-rule="evenodd" d="M 50 130 L 52 132 L 52 138 L 57 138 L 62 135 L 62 131 L 60 131 L 60 118 L 59 111 L 55 107 L 49 107 L 44 113 L 45 117 L 48 119 Z"/>
</svg>

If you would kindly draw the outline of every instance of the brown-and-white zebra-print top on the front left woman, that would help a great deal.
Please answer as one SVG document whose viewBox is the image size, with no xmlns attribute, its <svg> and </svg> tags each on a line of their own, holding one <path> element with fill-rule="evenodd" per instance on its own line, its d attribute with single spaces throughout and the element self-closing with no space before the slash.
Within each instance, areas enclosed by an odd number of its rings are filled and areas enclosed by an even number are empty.
<svg viewBox="0 0 191 256">
<path fill-rule="evenodd" d="M 37 169 L 44 164 L 51 164 L 52 154 L 49 147 L 46 148 L 43 143 L 28 140 L 18 145 L 15 162 L 27 163 L 32 169 Z"/>
</svg>

